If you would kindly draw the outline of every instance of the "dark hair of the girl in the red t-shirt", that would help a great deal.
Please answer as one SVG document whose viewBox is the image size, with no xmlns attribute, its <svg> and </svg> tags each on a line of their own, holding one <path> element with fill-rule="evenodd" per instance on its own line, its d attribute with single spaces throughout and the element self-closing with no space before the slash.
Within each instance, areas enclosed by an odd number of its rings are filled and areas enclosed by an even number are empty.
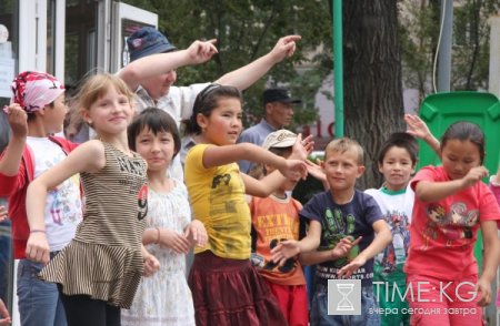
<svg viewBox="0 0 500 326">
<path fill-rule="evenodd" d="M 479 156 L 481 165 L 484 161 L 486 150 L 484 150 L 484 133 L 481 131 L 479 125 L 476 123 L 459 121 L 451 124 L 441 137 L 441 151 L 448 141 L 459 140 L 459 141 L 470 141 L 476 144 L 479 150 Z"/>
</svg>

